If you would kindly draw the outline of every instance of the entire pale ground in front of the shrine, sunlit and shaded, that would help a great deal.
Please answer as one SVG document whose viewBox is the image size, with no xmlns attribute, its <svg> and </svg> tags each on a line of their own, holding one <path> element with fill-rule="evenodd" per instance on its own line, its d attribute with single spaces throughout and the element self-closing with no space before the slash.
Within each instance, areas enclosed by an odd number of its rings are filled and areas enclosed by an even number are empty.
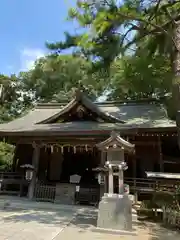
<svg viewBox="0 0 180 240">
<path fill-rule="evenodd" d="M 134 223 L 134 232 L 97 232 L 94 209 L 1 210 L 0 240 L 180 240 L 180 234 L 147 222 Z"/>
</svg>

